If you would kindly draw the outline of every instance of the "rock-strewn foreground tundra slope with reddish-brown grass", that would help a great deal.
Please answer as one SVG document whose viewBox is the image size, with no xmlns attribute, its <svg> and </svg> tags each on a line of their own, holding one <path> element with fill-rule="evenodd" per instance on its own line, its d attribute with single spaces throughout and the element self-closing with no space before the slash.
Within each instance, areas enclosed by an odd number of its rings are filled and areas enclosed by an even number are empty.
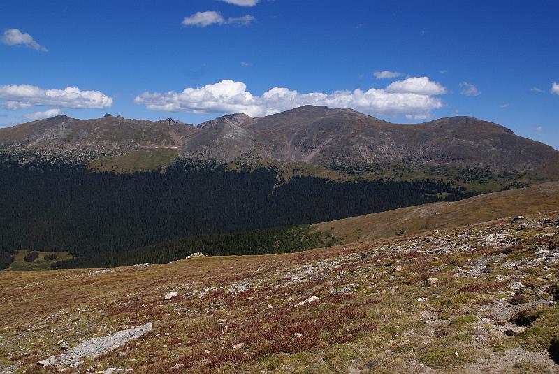
<svg viewBox="0 0 559 374">
<path fill-rule="evenodd" d="M 59 354 L 59 340 L 73 347 L 153 322 L 75 372 L 556 373 L 545 350 L 559 338 L 559 309 L 545 290 L 558 284 L 546 268 L 558 260 L 535 255 L 549 240 L 539 235 L 559 231 L 542 219 L 555 217 L 530 217 L 520 231 L 503 220 L 296 254 L 3 272 L 0 370 L 55 373 L 35 363 Z M 531 288 L 511 305 L 518 281 Z M 165 301 L 173 290 L 179 296 Z M 309 296 L 320 299 L 298 306 Z M 525 309 L 539 317 L 522 331 L 508 321 Z M 176 364 L 183 368 L 170 371 Z"/>
</svg>

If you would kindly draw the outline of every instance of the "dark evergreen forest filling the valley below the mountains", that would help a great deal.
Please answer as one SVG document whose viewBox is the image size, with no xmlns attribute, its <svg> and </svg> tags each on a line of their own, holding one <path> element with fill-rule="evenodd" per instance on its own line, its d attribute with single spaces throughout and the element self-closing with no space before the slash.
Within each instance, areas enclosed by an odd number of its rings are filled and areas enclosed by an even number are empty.
<svg viewBox="0 0 559 374">
<path fill-rule="evenodd" d="M 472 196 L 437 180 L 335 182 L 296 176 L 279 182 L 275 168 L 230 171 L 191 161 L 176 162 L 165 173 L 96 173 L 65 163 L 21 164 L 4 157 L 0 258 L 7 262 L 7 254 L 18 249 L 64 250 L 80 261 L 57 266 L 87 267 L 171 261 L 196 251 L 265 253 L 271 242 L 259 229 L 429 203 L 440 200 L 437 194 L 444 194 L 444 200 Z M 300 231 L 277 230 L 278 240 L 286 243 L 276 245 L 277 251 L 310 246 Z M 209 239 L 231 233 L 237 234 Z M 259 244 L 241 243 L 249 238 Z M 178 239 L 183 241 L 173 242 Z M 150 250 L 157 255 L 150 257 Z"/>
</svg>

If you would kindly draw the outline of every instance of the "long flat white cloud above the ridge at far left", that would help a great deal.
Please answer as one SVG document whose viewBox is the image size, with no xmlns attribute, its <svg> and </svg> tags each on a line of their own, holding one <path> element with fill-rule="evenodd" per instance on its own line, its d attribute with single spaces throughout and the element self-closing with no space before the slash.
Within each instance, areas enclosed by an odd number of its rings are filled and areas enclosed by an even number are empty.
<svg viewBox="0 0 559 374">
<path fill-rule="evenodd" d="M 15 101 L 20 106 L 61 106 L 63 108 L 108 108 L 112 97 L 99 91 L 80 91 L 77 87 L 41 89 L 33 85 L 0 86 L 0 99 Z M 4 103 L 4 105 L 6 105 Z M 16 104 L 8 104 L 16 105 Z"/>
</svg>

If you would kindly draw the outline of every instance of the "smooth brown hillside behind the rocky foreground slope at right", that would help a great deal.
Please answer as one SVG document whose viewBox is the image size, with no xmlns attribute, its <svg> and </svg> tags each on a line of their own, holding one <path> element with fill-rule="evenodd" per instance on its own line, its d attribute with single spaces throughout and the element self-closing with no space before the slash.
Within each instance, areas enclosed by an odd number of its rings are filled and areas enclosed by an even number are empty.
<svg viewBox="0 0 559 374">
<path fill-rule="evenodd" d="M 396 231 L 416 233 L 556 210 L 559 210 L 559 182 L 549 182 L 451 203 L 430 203 L 323 222 L 312 228 L 329 231 L 344 243 L 354 243 L 393 236 Z"/>
</svg>

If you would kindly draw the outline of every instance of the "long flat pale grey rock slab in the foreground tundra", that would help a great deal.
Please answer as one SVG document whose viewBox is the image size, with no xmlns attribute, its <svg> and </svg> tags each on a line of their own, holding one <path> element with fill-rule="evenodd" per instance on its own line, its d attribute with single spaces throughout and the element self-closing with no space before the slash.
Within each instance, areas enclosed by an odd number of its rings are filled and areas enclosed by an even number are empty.
<svg viewBox="0 0 559 374">
<path fill-rule="evenodd" d="M 143 334 L 151 329 L 152 323 L 148 322 L 147 324 L 143 324 L 141 326 L 135 326 L 117 333 L 101 336 L 101 338 L 85 340 L 58 357 L 49 357 L 47 360 L 43 361 L 45 361 L 45 363 L 49 362 L 50 365 L 57 365 L 59 367 L 78 366 L 82 359 L 85 359 L 86 357 L 97 357 L 100 354 L 114 350 L 121 345 L 128 343 L 130 340 L 143 336 Z M 43 364 L 43 366 L 48 365 Z"/>
</svg>

